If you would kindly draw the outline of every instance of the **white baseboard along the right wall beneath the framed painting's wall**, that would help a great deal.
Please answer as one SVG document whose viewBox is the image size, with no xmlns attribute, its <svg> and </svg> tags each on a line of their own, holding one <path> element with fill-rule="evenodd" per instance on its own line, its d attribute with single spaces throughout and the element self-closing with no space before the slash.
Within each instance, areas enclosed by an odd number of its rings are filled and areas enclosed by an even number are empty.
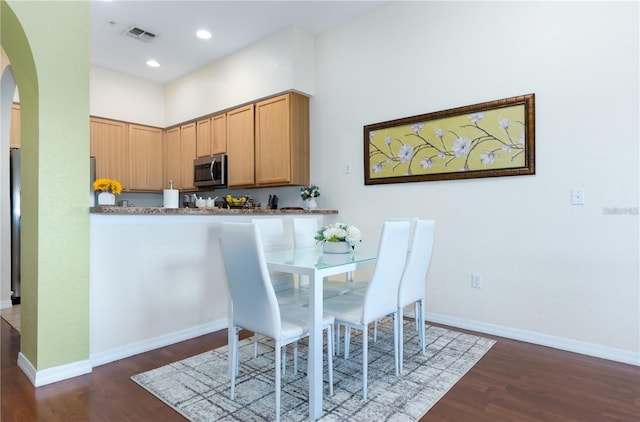
<svg viewBox="0 0 640 422">
<path fill-rule="evenodd" d="M 503 327 L 501 325 L 487 324 L 484 322 L 471 321 L 429 312 L 425 314 L 425 319 L 438 324 L 464 328 L 466 330 L 477 331 L 479 333 L 492 334 L 541 346 L 553 347 L 554 349 L 566 350 L 568 352 L 580 353 L 582 355 L 640 366 L 640 353 L 616 349 L 614 347 L 606 347 L 599 344 L 585 343 L 582 341 L 550 336 L 533 331 L 519 330 Z"/>
</svg>

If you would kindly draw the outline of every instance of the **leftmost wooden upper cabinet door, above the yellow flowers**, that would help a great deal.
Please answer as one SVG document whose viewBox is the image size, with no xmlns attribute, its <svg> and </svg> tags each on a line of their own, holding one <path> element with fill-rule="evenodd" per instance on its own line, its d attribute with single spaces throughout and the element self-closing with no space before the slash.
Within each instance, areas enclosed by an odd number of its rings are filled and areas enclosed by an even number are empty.
<svg viewBox="0 0 640 422">
<path fill-rule="evenodd" d="M 96 178 L 114 179 L 129 190 L 128 125 L 115 120 L 91 118 L 91 155 L 96 157 Z"/>
</svg>

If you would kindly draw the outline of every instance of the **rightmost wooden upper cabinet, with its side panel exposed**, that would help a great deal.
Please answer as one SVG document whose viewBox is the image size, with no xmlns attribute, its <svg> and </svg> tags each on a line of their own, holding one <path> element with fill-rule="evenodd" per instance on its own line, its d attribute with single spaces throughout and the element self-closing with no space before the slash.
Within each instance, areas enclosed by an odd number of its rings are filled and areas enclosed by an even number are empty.
<svg viewBox="0 0 640 422">
<path fill-rule="evenodd" d="M 255 183 L 309 184 L 309 98 L 288 93 L 256 103 Z"/>
</svg>

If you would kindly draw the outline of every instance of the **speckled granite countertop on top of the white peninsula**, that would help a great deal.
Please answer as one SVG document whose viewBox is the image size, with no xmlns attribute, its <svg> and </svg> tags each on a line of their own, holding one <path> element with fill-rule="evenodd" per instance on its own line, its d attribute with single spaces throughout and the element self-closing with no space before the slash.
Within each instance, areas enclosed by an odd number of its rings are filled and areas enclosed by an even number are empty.
<svg viewBox="0 0 640 422">
<path fill-rule="evenodd" d="M 305 210 L 302 208 L 164 208 L 164 207 L 117 207 L 99 206 L 89 208 L 91 214 L 105 215 L 283 215 L 283 214 L 338 214 L 338 210 Z"/>
</svg>

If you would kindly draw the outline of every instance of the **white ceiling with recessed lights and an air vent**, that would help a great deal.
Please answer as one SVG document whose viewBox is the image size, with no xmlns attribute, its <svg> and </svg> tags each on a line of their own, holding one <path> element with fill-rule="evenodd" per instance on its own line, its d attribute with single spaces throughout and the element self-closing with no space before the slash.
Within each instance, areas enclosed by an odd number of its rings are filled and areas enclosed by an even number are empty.
<svg viewBox="0 0 640 422">
<path fill-rule="evenodd" d="M 297 26 L 316 35 L 386 3 L 92 0 L 91 63 L 164 85 L 281 29 Z M 155 37 L 126 35 L 132 28 Z M 212 38 L 197 38 L 199 29 Z M 147 66 L 151 58 L 161 66 Z"/>
</svg>

